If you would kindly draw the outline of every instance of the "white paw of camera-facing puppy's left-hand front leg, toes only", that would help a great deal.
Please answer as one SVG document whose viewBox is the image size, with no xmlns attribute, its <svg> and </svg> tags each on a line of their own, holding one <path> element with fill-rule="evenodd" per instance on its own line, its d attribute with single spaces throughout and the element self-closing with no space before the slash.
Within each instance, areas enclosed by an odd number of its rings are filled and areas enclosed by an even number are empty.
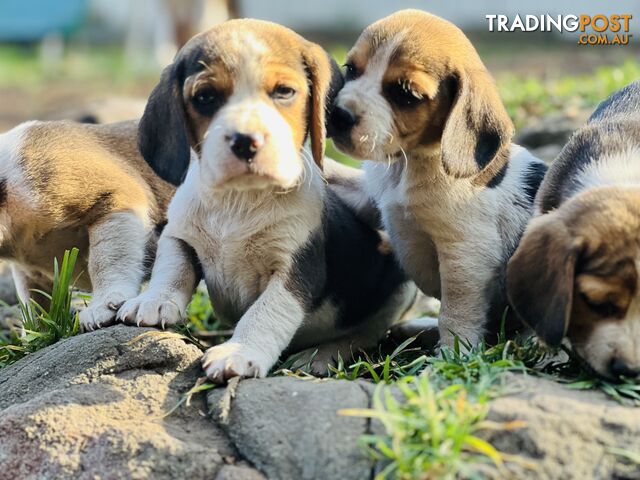
<svg viewBox="0 0 640 480">
<path fill-rule="evenodd" d="M 125 302 L 118 311 L 118 318 L 129 325 L 164 328 L 180 322 L 184 317 L 183 310 L 172 295 L 147 291 Z"/>
</svg>

